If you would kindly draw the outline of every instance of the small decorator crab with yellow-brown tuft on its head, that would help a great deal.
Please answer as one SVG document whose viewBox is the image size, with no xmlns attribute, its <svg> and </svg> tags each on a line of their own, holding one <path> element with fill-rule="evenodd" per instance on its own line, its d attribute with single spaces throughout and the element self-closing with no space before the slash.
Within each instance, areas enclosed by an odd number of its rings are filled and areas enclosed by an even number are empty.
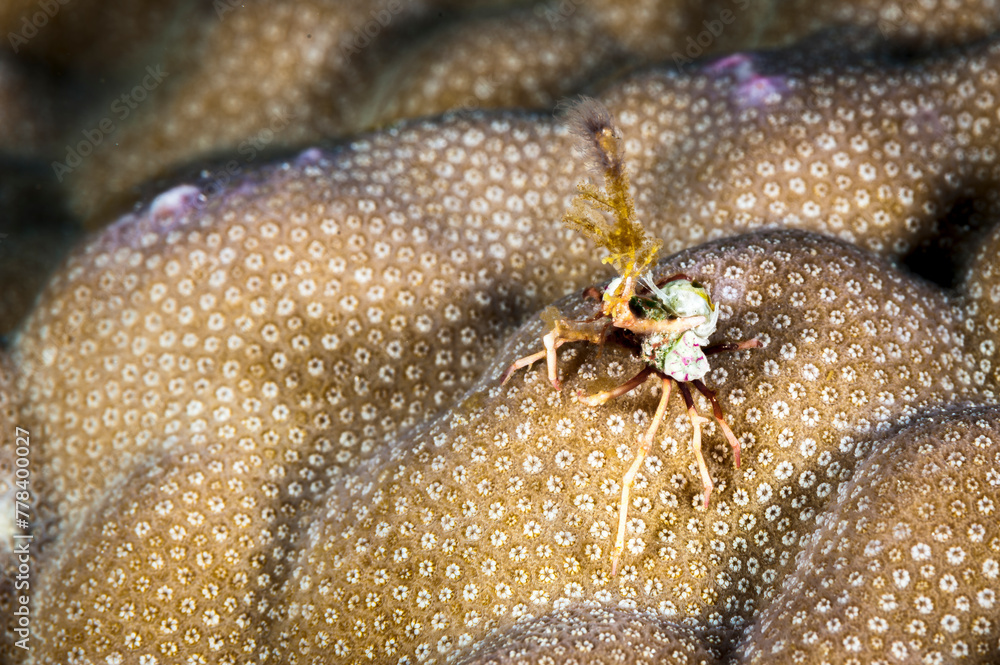
<svg viewBox="0 0 1000 665">
<path fill-rule="evenodd" d="M 708 419 L 695 409 L 691 388 L 694 387 L 711 402 L 715 419 L 732 446 L 733 457 L 739 467 L 740 443 L 723 418 L 715 392 L 702 383 L 702 378 L 710 369 L 708 356 L 720 351 L 759 347 L 760 343 L 751 339 L 735 344 L 708 345 L 708 338 L 715 332 L 719 318 L 719 311 L 708 290 L 686 275 L 653 280 L 650 267 L 656 261 L 662 242 L 647 236 L 636 219 L 621 135 L 612 123 L 611 114 L 600 103 L 585 99 L 572 113 L 571 122 L 589 159 L 604 176 L 604 191 L 591 183 L 581 183 L 580 193 L 563 221 L 607 248 L 610 255 L 604 262 L 614 266 L 618 277 L 603 291 L 590 287 L 584 292 L 584 295 L 600 302 L 600 311 L 589 319 L 565 319 L 555 307 L 543 311 L 541 316 L 548 327 L 542 338 L 545 350 L 515 361 L 504 372 L 501 382 L 506 383 L 518 369 L 545 358 L 549 381 L 553 388 L 560 390 L 556 349 L 566 342 L 604 344 L 612 337 L 634 349 L 646 362 L 646 368 L 612 390 L 594 395 L 578 391 L 579 401 L 598 406 L 639 387 L 650 376 L 660 380 L 662 396 L 656 413 L 649 429 L 639 438 L 635 460 L 622 482 L 618 535 L 612 555 L 611 574 L 614 575 L 625 548 L 629 491 L 663 420 L 672 382 L 677 384 L 691 419 L 694 430 L 691 448 L 698 460 L 707 508 L 712 493 L 712 478 L 701 450 L 701 425 Z M 613 223 L 609 223 L 607 215 L 613 218 Z"/>
</svg>

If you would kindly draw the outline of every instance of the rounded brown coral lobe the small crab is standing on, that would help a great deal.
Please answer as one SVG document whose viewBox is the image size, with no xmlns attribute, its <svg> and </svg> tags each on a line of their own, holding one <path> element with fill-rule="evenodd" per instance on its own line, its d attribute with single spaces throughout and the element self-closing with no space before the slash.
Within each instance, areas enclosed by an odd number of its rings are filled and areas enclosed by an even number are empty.
<svg viewBox="0 0 1000 665">
<path fill-rule="evenodd" d="M 920 411 L 995 399 L 995 386 L 970 376 L 978 356 L 957 339 L 955 305 L 852 247 L 758 233 L 657 272 L 678 271 L 710 284 L 721 339 L 755 334 L 765 345 L 720 356 L 710 374 L 749 464 L 733 470 L 725 440 L 707 442 L 708 510 L 679 449 L 684 414 L 672 408 L 633 488 L 625 568 L 612 580 L 618 481 L 655 399 L 635 391 L 597 411 L 560 399 L 538 372 L 504 388 L 487 375 L 474 406 L 389 442 L 331 493 L 284 587 L 287 616 L 272 642 L 412 658 L 593 601 L 695 618 L 724 646 L 769 605 L 874 441 Z M 539 329 L 527 324 L 493 371 Z M 590 388 L 604 368 L 612 379 L 635 371 L 611 348 L 598 361 L 582 347 L 572 365 L 570 390 Z"/>
</svg>

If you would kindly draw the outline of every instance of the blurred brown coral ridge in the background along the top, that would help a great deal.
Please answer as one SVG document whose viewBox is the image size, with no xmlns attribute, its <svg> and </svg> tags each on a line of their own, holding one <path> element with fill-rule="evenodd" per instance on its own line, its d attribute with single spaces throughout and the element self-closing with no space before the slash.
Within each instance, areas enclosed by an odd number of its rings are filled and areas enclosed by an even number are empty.
<svg viewBox="0 0 1000 665">
<path fill-rule="evenodd" d="M 191 27 L 176 28 L 186 31 L 176 50 L 160 59 L 150 54 L 150 62 L 165 64 L 172 78 L 156 90 L 155 103 L 130 105 L 134 110 L 121 118 L 113 144 L 96 146 L 95 157 L 74 173 L 73 202 L 91 226 L 102 226 L 113 211 L 135 200 L 134 188 L 144 180 L 167 176 L 196 159 L 237 155 L 236 163 L 246 168 L 244 158 L 252 154 L 247 161 L 253 162 L 265 148 L 339 137 L 400 117 L 470 107 L 551 108 L 624 62 L 667 61 L 672 70 L 690 71 L 698 58 L 787 44 L 832 26 L 867 35 L 862 42 L 868 45 L 967 44 L 989 35 L 998 14 L 990 10 L 993 0 L 966 4 L 935 11 L 926 3 L 838 0 L 822 3 L 817 12 L 751 0 L 697 6 L 676 0 L 563 0 L 530 10 L 494 10 L 488 17 L 469 10 L 415 38 L 419 26 L 434 24 L 439 3 L 219 0 L 213 5 L 216 16 L 206 12 L 195 14 L 200 21 L 178 21 Z M 843 50 L 844 39 L 834 39 L 837 50 Z M 794 79 L 802 72 L 786 75 Z M 133 78 L 142 76 L 137 71 Z M 752 105 L 769 98 L 772 86 L 779 93 L 785 87 L 770 74 L 751 70 L 745 76 L 750 80 L 741 87 L 749 92 L 742 96 Z M 134 83 L 123 75 L 122 91 L 108 103 Z M 819 90 L 799 92 L 810 97 L 836 92 L 837 99 L 861 110 L 855 91 L 838 90 L 856 83 L 844 81 L 832 90 L 829 82 L 817 83 Z M 788 87 L 795 96 L 796 83 Z M 912 99 L 907 94 L 901 90 L 898 99 Z M 844 121 L 852 124 L 850 118 Z M 71 136 L 85 129 L 90 126 Z M 888 128 L 873 129 L 892 140 Z"/>
</svg>

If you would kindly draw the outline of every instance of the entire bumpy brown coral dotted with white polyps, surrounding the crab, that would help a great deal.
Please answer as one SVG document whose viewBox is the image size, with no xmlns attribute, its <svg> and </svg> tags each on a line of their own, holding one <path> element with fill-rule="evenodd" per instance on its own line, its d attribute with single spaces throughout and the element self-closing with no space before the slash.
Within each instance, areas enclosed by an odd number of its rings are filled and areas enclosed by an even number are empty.
<svg viewBox="0 0 1000 665">
<path fill-rule="evenodd" d="M 28 319 L 0 340 L 0 662 L 995 661 L 989 0 L 476 5 L 202 8 L 162 87 L 73 170 L 83 207 L 182 175 L 81 242 L 37 302 L 21 292 Z M 561 117 L 474 108 L 579 88 L 621 127 L 637 215 L 676 252 L 656 274 L 706 285 L 713 342 L 762 343 L 706 377 L 742 466 L 708 425 L 706 507 L 672 402 L 617 575 L 658 387 L 575 400 L 642 367 L 612 343 L 560 348 L 562 391 L 543 367 L 498 381 L 539 349 L 539 309 L 591 314 L 582 289 L 610 276 L 559 222 L 594 174 Z"/>
</svg>

